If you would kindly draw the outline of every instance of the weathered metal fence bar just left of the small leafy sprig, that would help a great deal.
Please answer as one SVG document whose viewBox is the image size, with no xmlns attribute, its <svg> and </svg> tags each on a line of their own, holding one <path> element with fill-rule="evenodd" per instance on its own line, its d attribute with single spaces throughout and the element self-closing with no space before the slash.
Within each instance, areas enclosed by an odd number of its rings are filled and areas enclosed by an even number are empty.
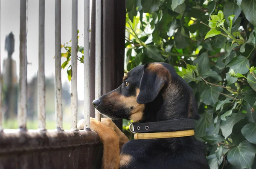
<svg viewBox="0 0 256 169">
<path fill-rule="evenodd" d="M 55 0 L 55 116 L 57 130 L 63 130 L 61 91 L 61 0 Z"/>
</svg>

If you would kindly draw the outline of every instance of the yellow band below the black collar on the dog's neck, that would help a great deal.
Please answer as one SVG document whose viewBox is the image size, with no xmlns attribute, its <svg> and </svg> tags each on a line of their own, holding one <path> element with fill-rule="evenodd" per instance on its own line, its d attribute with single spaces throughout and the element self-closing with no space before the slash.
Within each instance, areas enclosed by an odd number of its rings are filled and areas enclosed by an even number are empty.
<svg viewBox="0 0 256 169">
<path fill-rule="evenodd" d="M 157 138 L 174 138 L 187 137 L 195 135 L 194 130 L 183 130 L 177 132 L 158 132 L 158 133 L 135 133 L 134 139 L 157 139 Z"/>
</svg>

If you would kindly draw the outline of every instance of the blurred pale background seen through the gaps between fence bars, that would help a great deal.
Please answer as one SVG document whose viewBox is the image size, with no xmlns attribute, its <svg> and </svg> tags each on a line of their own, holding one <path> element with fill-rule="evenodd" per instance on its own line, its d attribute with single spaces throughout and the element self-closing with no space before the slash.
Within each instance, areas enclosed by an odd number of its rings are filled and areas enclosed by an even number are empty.
<svg viewBox="0 0 256 169">
<path fill-rule="evenodd" d="M 45 75 L 46 75 L 46 119 L 47 129 L 55 129 L 55 91 L 54 91 L 54 0 L 45 1 Z M 78 1 L 78 29 L 83 32 L 83 1 Z M 37 129 L 37 72 L 38 72 L 38 1 L 28 0 L 27 20 L 27 97 L 28 129 Z M 19 29 L 20 1 L 1 0 L 0 56 L 3 76 L 4 128 L 17 129 L 17 82 L 19 79 Z M 61 0 L 61 43 L 71 39 L 71 0 Z M 81 39 L 81 40 L 80 40 Z M 83 46 L 79 37 L 79 46 Z M 71 43 L 68 44 L 71 46 Z M 81 54 L 81 53 L 80 53 Z M 79 54 L 78 54 L 79 55 Z M 66 59 L 62 57 L 63 63 Z M 63 128 L 70 129 L 70 81 L 67 68 L 62 72 Z M 83 64 L 78 64 L 78 118 L 81 119 L 84 99 Z M 12 95 L 11 95 L 12 93 Z"/>
</svg>

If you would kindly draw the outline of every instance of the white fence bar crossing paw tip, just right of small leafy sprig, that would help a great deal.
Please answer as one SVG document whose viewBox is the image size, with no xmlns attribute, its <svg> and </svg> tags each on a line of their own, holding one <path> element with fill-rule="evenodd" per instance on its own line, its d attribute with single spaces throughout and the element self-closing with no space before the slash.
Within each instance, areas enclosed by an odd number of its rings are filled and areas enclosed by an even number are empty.
<svg viewBox="0 0 256 169">
<path fill-rule="evenodd" d="M 90 128 L 90 0 L 84 0 L 84 129 Z"/>
</svg>

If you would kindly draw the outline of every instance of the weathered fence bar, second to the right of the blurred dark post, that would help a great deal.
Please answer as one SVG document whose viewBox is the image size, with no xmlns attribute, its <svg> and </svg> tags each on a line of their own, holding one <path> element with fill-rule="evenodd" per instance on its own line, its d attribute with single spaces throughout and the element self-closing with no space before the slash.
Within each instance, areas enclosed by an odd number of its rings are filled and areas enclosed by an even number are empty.
<svg viewBox="0 0 256 169">
<path fill-rule="evenodd" d="M 44 75 L 44 13 L 45 0 L 39 0 L 38 43 L 38 129 L 45 129 L 45 75 Z"/>
</svg>

